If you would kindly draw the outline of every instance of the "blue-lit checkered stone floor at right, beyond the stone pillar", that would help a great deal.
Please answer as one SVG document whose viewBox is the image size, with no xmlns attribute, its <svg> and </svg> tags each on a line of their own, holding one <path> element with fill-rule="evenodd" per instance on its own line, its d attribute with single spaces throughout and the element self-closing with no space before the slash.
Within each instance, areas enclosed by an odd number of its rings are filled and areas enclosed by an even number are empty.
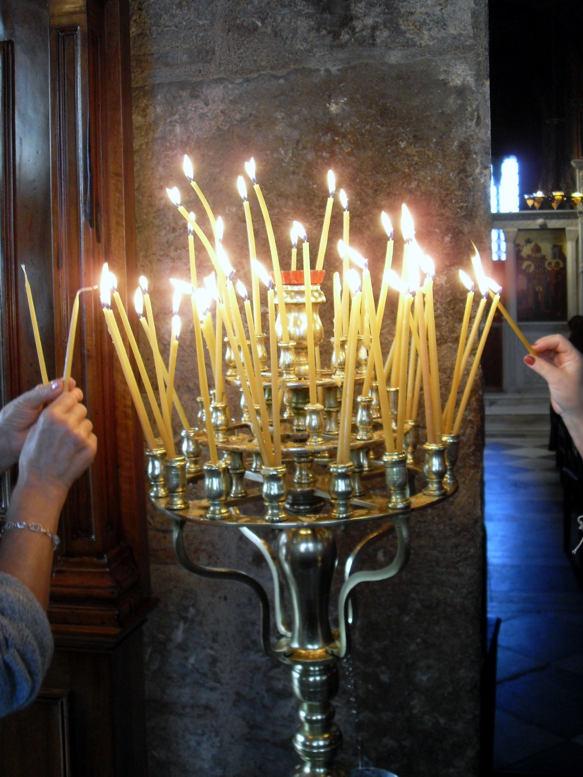
<svg viewBox="0 0 583 777">
<path fill-rule="evenodd" d="M 494 769 L 583 775 L 583 591 L 548 437 L 487 436 L 488 614 L 502 619 Z"/>
</svg>

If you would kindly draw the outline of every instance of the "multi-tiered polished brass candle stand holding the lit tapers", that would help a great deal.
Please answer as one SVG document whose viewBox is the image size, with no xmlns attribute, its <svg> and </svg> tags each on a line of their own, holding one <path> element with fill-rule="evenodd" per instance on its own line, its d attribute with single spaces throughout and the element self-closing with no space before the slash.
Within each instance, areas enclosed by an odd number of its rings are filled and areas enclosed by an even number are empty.
<svg viewBox="0 0 583 777">
<path fill-rule="evenodd" d="M 238 580 L 257 594 L 261 606 L 261 644 L 267 656 L 288 665 L 292 689 L 300 702 L 300 725 L 293 746 L 302 765 L 296 777 L 340 777 L 337 763 L 342 734 L 334 723 L 332 699 L 337 693 L 338 664 L 349 650 L 347 612 L 350 596 L 358 584 L 386 580 L 407 563 L 410 549 L 409 521 L 419 510 L 428 509 L 457 490 L 454 468 L 459 438 L 444 437 L 442 444 L 425 444 L 424 461 L 417 462 L 417 423 L 406 426 L 403 452 L 382 455 L 384 436 L 379 419 L 379 392 L 375 384 L 368 396 L 354 401 L 351 431 L 351 461 L 336 461 L 340 420 L 340 392 L 344 378 L 344 343 L 337 363 L 317 373 L 317 388 L 323 403 L 309 404 L 309 385 L 304 373 L 305 326 L 302 294 L 297 287 L 285 289 L 293 301 L 290 343 L 280 343 L 279 378 L 281 405 L 281 466 L 266 466 L 249 420 L 229 423 L 224 404 L 211 406 L 211 421 L 220 455 L 187 474 L 187 459 L 163 460 L 163 448 L 147 451 L 147 475 L 152 504 L 173 524 L 173 545 L 180 564 L 200 577 Z M 319 345 L 323 340 L 318 305 L 319 287 L 312 289 L 317 301 L 312 315 Z M 305 306 L 303 308 L 305 319 Z M 316 321 L 317 319 L 317 321 Z M 366 369 L 366 349 L 361 351 L 355 385 L 361 385 Z M 231 359 L 228 350 L 227 361 Z M 239 387 L 240 378 L 229 369 L 225 382 Z M 262 374 L 273 424 L 271 375 Z M 389 402 L 396 414 L 399 389 L 389 389 Z M 358 392 L 355 392 L 358 394 Z M 375 412 L 376 409 L 376 412 Z M 199 419 L 199 423 L 200 423 Z M 208 448 L 201 430 L 184 434 Z M 196 443 L 196 444 L 195 444 Z M 182 467 L 183 473 L 178 470 Z M 166 471 L 163 492 L 161 472 Z M 184 483 L 188 480 L 186 503 Z M 176 493 L 175 493 L 176 492 Z M 373 531 L 368 522 L 375 521 Z M 271 605 L 264 587 L 237 570 L 201 566 L 188 554 L 184 542 L 187 524 L 238 529 L 260 550 L 273 578 L 274 623 L 277 641 L 271 636 Z M 330 591 L 337 569 L 335 530 L 362 524 L 364 536 L 345 560 L 344 582 L 337 601 L 337 629 L 330 624 Z M 257 533 L 260 530 L 260 533 Z M 263 536 L 272 531 L 272 541 Z M 390 531 L 396 534 L 393 561 L 379 570 L 357 570 L 361 551 Z M 286 608 L 287 605 L 287 608 Z M 288 617 L 286 617 L 288 609 Z M 289 625 L 288 625 L 289 624 Z"/>
</svg>

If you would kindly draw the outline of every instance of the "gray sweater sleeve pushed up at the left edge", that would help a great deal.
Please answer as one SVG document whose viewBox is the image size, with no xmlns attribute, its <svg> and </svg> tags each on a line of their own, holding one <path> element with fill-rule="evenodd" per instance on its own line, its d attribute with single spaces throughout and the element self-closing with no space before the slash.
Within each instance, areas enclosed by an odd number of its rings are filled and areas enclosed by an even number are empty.
<svg viewBox="0 0 583 777">
<path fill-rule="evenodd" d="M 44 609 L 16 577 L 0 573 L 0 717 L 32 702 L 52 655 Z"/>
</svg>

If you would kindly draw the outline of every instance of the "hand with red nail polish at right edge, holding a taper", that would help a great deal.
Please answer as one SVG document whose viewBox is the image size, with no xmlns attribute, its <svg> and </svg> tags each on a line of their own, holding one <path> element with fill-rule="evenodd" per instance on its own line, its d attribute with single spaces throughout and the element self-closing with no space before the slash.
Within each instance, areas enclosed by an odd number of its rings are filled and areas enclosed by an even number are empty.
<svg viewBox="0 0 583 777">
<path fill-rule="evenodd" d="M 525 356 L 525 364 L 549 384 L 550 402 L 583 455 L 583 355 L 562 335 L 542 337 L 532 348 L 537 355 Z"/>
</svg>

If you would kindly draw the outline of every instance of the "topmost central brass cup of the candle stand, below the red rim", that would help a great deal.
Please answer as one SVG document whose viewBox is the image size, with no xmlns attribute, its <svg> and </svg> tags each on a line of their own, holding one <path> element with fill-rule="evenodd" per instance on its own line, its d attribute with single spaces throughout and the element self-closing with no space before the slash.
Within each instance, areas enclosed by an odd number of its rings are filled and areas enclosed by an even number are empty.
<svg viewBox="0 0 583 777">
<path fill-rule="evenodd" d="M 295 375 L 308 377 L 308 315 L 305 311 L 305 286 L 284 286 L 285 315 L 288 321 L 290 340 L 295 342 Z M 317 348 L 324 339 L 324 328 L 319 317 L 319 306 L 326 301 L 319 285 L 312 286 L 312 332 L 314 346 Z M 278 294 L 275 294 L 278 305 Z M 281 317 L 278 305 L 278 317 L 275 319 L 275 334 L 281 346 Z"/>
</svg>

